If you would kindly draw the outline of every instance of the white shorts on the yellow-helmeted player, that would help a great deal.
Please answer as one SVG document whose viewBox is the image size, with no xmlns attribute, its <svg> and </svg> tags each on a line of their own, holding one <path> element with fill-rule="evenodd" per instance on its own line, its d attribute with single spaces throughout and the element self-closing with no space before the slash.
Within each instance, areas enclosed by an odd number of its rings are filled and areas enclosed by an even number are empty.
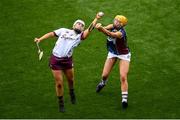
<svg viewBox="0 0 180 120">
<path fill-rule="evenodd" d="M 109 52 L 107 58 L 119 58 L 121 60 L 127 60 L 130 62 L 131 61 L 131 53 L 128 53 L 125 55 L 116 55 L 116 54 Z"/>
</svg>

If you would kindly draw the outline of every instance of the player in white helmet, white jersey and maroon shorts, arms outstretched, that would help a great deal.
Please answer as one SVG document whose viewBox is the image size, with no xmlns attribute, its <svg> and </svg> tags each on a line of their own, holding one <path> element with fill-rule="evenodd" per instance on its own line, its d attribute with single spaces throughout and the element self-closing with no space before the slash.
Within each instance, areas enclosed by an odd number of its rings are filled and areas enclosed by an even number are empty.
<svg viewBox="0 0 180 120">
<path fill-rule="evenodd" d="M 90 26 L 84 30 L 85 23 L 82 20 L 76 20 L 73 24 L 73 29 L 60 28 L 53 32 L 49 32 L 40 38 L 35 38 L 35 42 L 41 42 L 50 37 L 58 37 L 55 47 L 50 58 L 49 66 L 55 78 L 56 94 L 58 97 L 59 111 L 64 112 L 64 87 L 63 87 L 63 73 L 67 78 L 69 94 L 72 104 L 76 103 L 74 93 L 74 69 L 72 62 L 73 49 L 77 47 L 80 42 L 85 40 L 90 32 L 95 27 L 97 20 L 102 15 L 97 14 Z"/>
</svg>

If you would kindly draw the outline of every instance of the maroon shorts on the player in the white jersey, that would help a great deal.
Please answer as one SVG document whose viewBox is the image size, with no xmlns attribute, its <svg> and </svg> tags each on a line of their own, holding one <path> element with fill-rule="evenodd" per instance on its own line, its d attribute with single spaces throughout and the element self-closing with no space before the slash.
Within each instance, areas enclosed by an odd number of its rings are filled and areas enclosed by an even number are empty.
<svg viewBox="0 0 180 120">
<path fill-rule="evenodd" d="M 73 68 L 72 57 L 56 57 L 51 55 L 49 67 L 53 70 L 65 70 Z"/>
</svg>

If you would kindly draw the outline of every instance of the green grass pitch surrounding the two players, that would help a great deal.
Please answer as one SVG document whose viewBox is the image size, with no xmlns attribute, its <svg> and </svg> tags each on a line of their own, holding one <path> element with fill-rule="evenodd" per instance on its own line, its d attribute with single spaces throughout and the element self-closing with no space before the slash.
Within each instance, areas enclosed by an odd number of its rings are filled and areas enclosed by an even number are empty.
<svg viewBox="0 0 180 120">
<path fill-rule="evenodd" d="M 1 0 L 0 118 L 180 118 L 179 5 L 179 0 Z M 107 51 L 106 37 L 94 30 L 73 55 L 78 104 L 70 104 L 64 80 L 67 111 L 59 113 L 48 68 L 55 39 L 41 43 L 41 62 L 33 39 L 71 28 L 77 18 L 88 26 L 97 11 L 105 12 L 103 25 L 116 14 L 129 19 L 129 108 L 121 110 L 117 64 L 108 85 L 95 93 Z"/>
</svg>

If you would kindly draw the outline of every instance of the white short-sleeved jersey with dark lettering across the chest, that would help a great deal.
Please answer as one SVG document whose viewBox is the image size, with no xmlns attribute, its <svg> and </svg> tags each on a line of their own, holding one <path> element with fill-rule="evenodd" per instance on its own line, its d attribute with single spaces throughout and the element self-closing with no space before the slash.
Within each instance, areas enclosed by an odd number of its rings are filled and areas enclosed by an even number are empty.
<svg viewBox="0 0 180 120">
<path fill-rule="evenodd" d="M 58 40 L 53 49 L 53 55 L 56 57 L 71 57 L 73 49 L 81 42 L 81 34 L 76 34 L 74 30 L 60 28 L 54 33 L 58 36 Z"/>
</svg>

